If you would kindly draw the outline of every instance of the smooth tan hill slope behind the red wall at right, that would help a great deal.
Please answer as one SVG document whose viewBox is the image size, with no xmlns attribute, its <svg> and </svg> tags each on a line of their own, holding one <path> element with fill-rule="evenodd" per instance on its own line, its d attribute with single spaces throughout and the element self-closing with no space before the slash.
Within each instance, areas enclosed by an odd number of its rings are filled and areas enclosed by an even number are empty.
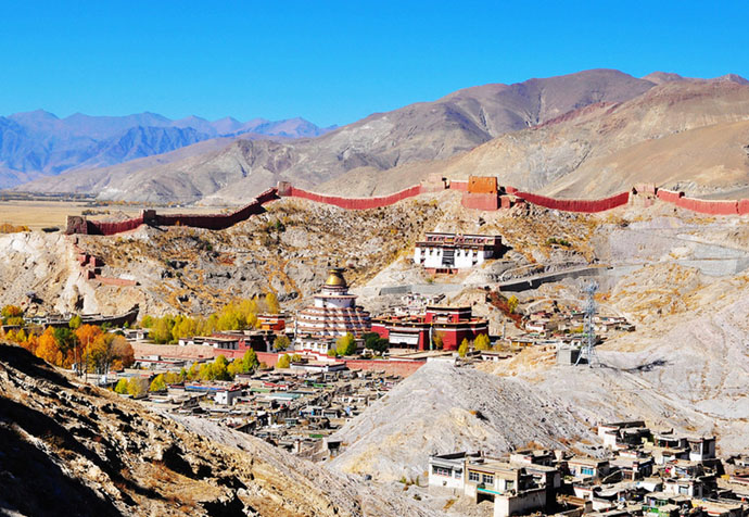
<svg viewBox="0 0 749 517">
<path fill-rule="evenodd" d="M 638 181 L 732 190 L 749 182 L 747 121 L 747 85 L 668 81 L 622 104 L 592 105 L 498 137 L 442 173 L 497 176 L 564 197 L 604 196 Z"/>
</svg>

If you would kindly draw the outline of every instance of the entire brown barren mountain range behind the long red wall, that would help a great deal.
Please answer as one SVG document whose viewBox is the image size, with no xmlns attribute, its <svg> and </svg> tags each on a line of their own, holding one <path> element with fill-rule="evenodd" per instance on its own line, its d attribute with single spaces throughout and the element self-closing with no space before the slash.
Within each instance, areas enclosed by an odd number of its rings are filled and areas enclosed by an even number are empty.
<svg viewBox="0 0 749 517">
<path fill-rule="evenodd" d="M 429 174 L 480 174 L 568 197 L 638 181 L 736 192 L 749 186 L 747 128 L 749 83 L 739 76 L 635 78 L 593 70 L 467 88 L 315 138 L 212 139 L 114 166 L 78 167 L 20 189 L 241 204 L 278 180 L 369 196 Z"/>
</svg>

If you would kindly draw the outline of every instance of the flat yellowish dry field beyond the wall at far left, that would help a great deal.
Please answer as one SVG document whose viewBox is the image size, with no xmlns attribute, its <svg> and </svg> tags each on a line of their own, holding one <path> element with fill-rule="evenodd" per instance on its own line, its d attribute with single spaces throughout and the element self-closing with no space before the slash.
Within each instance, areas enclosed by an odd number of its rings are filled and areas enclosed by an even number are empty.
<svg viewBox="0 0 749 517">
<path fill-rule="evenodd" d="M 90 218 L 109 218 L 120 216 L 136 216 L 145 206 L 140 205 L 107 205 L 90 206 L 86 201 L 45 201 L 45 200 L 10 200 L 0 201 L 0 225 L 8 223 L 14 226 L 27 226 L 30 229 L 41 229 L 52 226 L 65 227 L 68 215 L 80 215 L 85 210 L 90 210 L 96 215 Z M 157 207 L 160 213 L 191 213 L 208 214 L 221 212 L 215 206 L 180 206 Z M 109 213 L 105 213 L 109 212 Z"/>
</svg>

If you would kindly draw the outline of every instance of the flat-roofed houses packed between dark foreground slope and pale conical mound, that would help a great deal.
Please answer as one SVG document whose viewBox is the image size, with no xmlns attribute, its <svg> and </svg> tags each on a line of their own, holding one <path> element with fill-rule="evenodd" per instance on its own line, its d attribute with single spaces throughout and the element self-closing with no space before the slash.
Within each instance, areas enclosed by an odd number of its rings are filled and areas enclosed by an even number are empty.
<svg viewBox="0 0 749 517">
<path fill-rule="evenodd" d="M 297 454 L 334 453 L 328 437 L 399 380 L 377 371 L 290 368 L 240 374 L 231 382 L 186 381 L 149 393 L 147 403 L 208 418 Z"/>
</svg>

